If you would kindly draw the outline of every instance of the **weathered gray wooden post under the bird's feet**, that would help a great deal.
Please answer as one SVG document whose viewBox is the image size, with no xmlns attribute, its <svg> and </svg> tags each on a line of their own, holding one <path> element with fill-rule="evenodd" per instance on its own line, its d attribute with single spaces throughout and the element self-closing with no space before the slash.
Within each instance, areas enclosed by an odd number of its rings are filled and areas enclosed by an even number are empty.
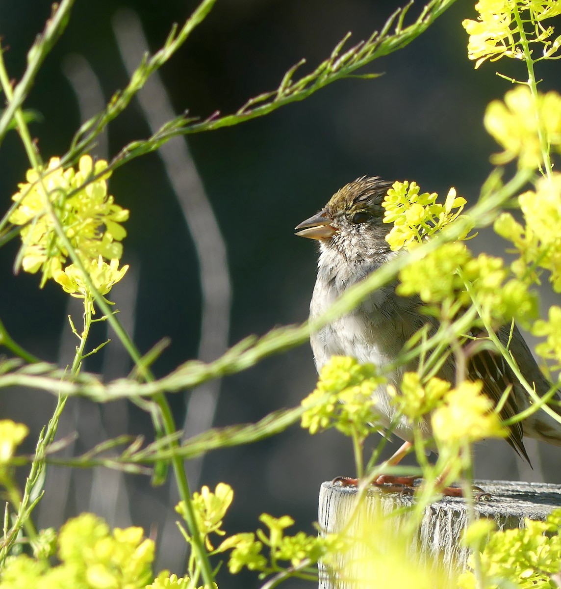
<svg viewBox="0 0 561 589">
<path fill-rule="evenodd" d="M 561 507 L 561 486 L 546 483 L 519 481 L 476 481 L 476 485 L 490 494 L 487 501 L 474 505 L 476 517 L 493 519 L 498 530 L 523 527 L 524 519 L 545 519 L 550 512 Z M 357 488 L 341 487 L 324 482 L 320 489 L 318 521 L 322 530 L 341 531 L 356 506 Z M 376 517 L 382 512 L 411 505 L 411 495 L 388 493 L 372 488 L 367 492 L 361 517 Z M 404 516 L 407 517 L 405 514 Z M 416 548 L 424 554 L 437 557 L 449 571 L 466 568 L 467 549 L 460 545 L 460 535 L 466 527 L 467 505 L 464 499 L 445 497 L 427 507 Z M 399 525 L 399 518 L 396 525 Z M 369 528 L 369 522 L 353 522 L 350 531 L 360 525 Z M 380 538 L 383 542 L 383 538 Z M 320 589 L 344 589 L 346 584 L 333 583 L 326 570 L 320 569 Z"/>
</svg>

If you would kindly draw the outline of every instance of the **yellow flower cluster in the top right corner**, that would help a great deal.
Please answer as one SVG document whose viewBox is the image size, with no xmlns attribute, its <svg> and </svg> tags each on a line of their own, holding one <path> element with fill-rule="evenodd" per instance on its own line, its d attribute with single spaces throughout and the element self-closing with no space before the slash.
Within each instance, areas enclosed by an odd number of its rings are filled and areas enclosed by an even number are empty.
<svg viewBox="0 0 561 589">
<path fill-rule="evenodd" d="M 462 26 L 469 34 L 467 55 L 473 59 L 476 69 L 486 60 L 496 61 L 502 57 L 523 59 L 520 28 L 527 42 L 543 45 L 543 57 L 550 58 L 560 46 L 560 40 L 550 41 L 553 27 L 544 27 L 542 22 L 561 14 L 559 0 L 479 0 L 475 5 L 477 20 L 466 19 Z"/>
</svg>

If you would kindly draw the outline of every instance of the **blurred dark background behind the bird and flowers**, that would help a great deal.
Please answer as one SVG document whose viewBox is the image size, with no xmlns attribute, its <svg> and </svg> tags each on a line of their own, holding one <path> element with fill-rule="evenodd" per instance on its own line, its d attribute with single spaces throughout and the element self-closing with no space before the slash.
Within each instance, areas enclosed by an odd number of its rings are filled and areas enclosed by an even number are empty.
<svg viewBox="0 0 561 589">
<path fill-rule="evenodd" d="M 162 68 L 161 80 L 176 114 L 186 109 L 201 117 L 215 110 L 233 112 L 248 98 L 276 88 L 284 72 L 300 58 L 307 59 L 303 72 L 316 67 L 347 31 L 353 32 L 351 42 L 369 37 L 399 5 L 394 0 L 218 0 L 208 18 Z M 67 31 L 47 58 L 25 105 L 42 115 L 31 130 L 45 160 L 67 151 L 84 117 L 77 92 L 82 92 L 82 98 L 93 96 L 95 106 L 95 84 L 107 101 L 127 83 L 115 22 L 126 24 L 134 20 L 130 11 L 137 13 L 148 44 L 156 51 L 171 24 L 183 22 L 194 7 L 195 2 L 186 0 L 77 2 Z M 122 9 L 129 12 L 119 12 Z M 413 6 L 411 15 L 416 16 L 419 9 Z M 49 2 L 39 0 L 0 5 L 0 34 L 8 48 L 5 59 L 12 77 L 21 77 L 26 50 L 49 12 Z M 384 72 L 376 80 L 339 81 L 267 117 L 187 137 L 191 165 L 194 163 L 189 168 L 194 174 L 191 181 L 211 203 L 227 247 L 232 292 L 228 343 L 306 319 L 316 249 L 314 243 L 294 237 L 293 227 L 348 181 L 363 174 L 407 178 L 417 181 L 423 190 L 446 194 L 455 186 L 468 200 L 477 197 L 491 169 L 489 154 L 497 150 L 482 127 L 484 108 L 493 98 L 502 97 L 509 84 L 494 74 L 493 64 L 474 71 L 473 62 L 467 59 L 464 18 L 474 18 L 472 1 L 459 0 L 411 45 L 373 62 L 366 71 Z M 522 64 L 498 65 L 502 72 L 525 76 Z M 555 63 L 540 65 L 539 75 L 545 79 L 542 90 L 558 84 L 553 67 Z M 85 72 L 85 77 L 74 76 L 74 87 L 72 72 Z M 88 85 L 92 76 L 94 89 Z M 96 153 L 111 157 L 128 141 L 149 134 L 144 112 L 135 100 L 109 125 L 107 147 L 102 140 Z M 6 209 L 28 168 L 15 133 L 4 142 L 0 166 L 0 198 Z M 171 346 L 154 366 L 161 376 L 199 354 L 197 251 L 181 199 L 157 153 L 117 170 L 110 189 L 117 202 L 131 210 L 123 256 L 131 271 L 112 295 L 134 330 L 141 352 L 162 337 L 171 338 Z M 196 216 L 192 223 L 197 225 Z M 470 246 L 494 253 L 504 248 L 489 231 L 482 231 Z M 38 277 L 14 276 L 17 247 L 10 243 L 0 255 L 0 317 L 25 348 L 65 365 L 75 346 L 68 335 L 66 315 L 76 314 L 78 307 L 69 309 L 68 297 L 57 284 L 47 284 L 39 291 Z M 212 258 L 212 251 L 205 251 Z M 224 297 L 227 300 L 227 293 Z M 555 297 L 545 289 L 543 305 L 553 302 Z M 79 310 L 75 320 L 79 320 Z M 96 327 L 94 340 L 101 342 L 104 326 Z M 88 360 L 86 368 L 109 377 L 126 374 L 131 365 L 119 346 L 111 343 Z M 308 346 L 270 358 L 225 378 L 219 397 L 216 390 L 211 392 L 218 399 L 213 425 L 256 421 L 274 409 L 296 405 L 315 381 Z M 187 391 L 170 398 L 179 424 L 184 422 L 188 398 Z M 54 399 L 47 393 L 18 389 L 0 398 L 2 418 L 31 426 L 28 451 L 53 406 Z M 123 431 L 150 436 L 151 432 L 147 416 L 125 403 L 98 408 L 75 400 L 69 403 L 64 420 L 61 435 L 71 431 L 80 435 L 68 450 L 74 453 L 103 436 Z M 476 457 L 476 476 L 561 483 L 561 454 L 530 446 L 533 471 L 518 461 L 506 443 L 482 445 Z M 394 444 L 388 453 L 395 448 Z M 340 435 L 328 432 L 310 437 L 294 426 L 258 444 L 205 456 L 200 467 L 200 462 L 190 466 L 196 487 L 207 484 L 214 488 L 224 481 L 235 489 L 234 505 L 225 522 L 228 532 L 254 530 L 263 511 L 275 516 L 291 514 L 298 527 L 311 531 L 320 483 L 352 474 L 353 460 L 350 442 Z M 148 478 L 140 476 L 117 479 L 99 472 L 69 476 L 63 469 L 51 468 L 39 524 L 58 526 L 78 511 L 93 509 L 114 525 L 142 525 L 147 533 L 167 538 L 160 568 L 181 573 L 183 541 L 174 530 L 172 507 L 177 498 L 173 491 L 165 486 L 151 488 Z M 100 492 L 104 489 L 113 489 L 110 505 Z M 251 575 L 239 580 L 246 587 L 258 583 Z"/>
</svg>

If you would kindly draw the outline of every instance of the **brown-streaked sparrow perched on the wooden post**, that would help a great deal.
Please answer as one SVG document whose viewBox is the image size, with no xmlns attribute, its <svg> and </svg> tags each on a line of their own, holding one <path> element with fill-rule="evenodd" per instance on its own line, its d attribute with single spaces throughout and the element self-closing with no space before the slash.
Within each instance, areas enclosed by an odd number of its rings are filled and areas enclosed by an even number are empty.
<svg viewBox="0 0 561 589">
<path fill-rule="evenodd" d="M 319 244 L 310 319 L 323 315 L 346 289 L 364 280 L 395 256 L 401 255 L 401 252 L 391 251 L 386 241 L 392 224 L 383 222 L 382 203 L 392 184 L 393 181 L 377 176 L 357 178 L 338 190 L 317 214 L 296 227 L 296 235 L 317 240 Z M 430 280 L 431 277 L 427 276 L 426 279 Z M 396 286 L 397 279 L 374 290 L 353 311 L 311 335 L 311 348 L 318 372 L 335 355 L 353 356 L 359 362 L 371 362 L 383 368 L 394 363 L 408 340 L 427 323 L 431 332 L 436 331 L 438 319 L 423 314 L 420 298 L 399 296 Z M 507 325 L 497 332 L 503 345 L 509 342 L 510 329 L 511 326 Z M 516 326 L 509 350 L 527 382 L 535 386 L 537 394 L 543 396 L 549 391 L 550 383 L 538 368 Z M 399 390 L 403 373 L 415 372 L 417 368 L 416 361 L 412 361 L 409 365 L 392 369 L 386 375 L 387 384 Z M 437 376 L 454 382 L 455 374 L 454 357 L 449 354 Z M 486 349 L 474 352 L 468 362 L 467 378 L 482 380 L 483 392 L 495 405 L 504 391 L 512 387 L 500 411 L 503 419 L 516 415 L 530 405 L 526 390 L 498 353 Z M 391 403 L 387 384 L 381 385 L 376 391 L 377 411 L 382 428 L 388 428 L 393 423 L 394 433 L 406 442 L 390 459 L 390 464 L 397 464 L 413 441 L 413 425 L 404 417 L 396 422 L 397 409 Z M 552 408 L 558 411 L 559 403 L 555 401 L 561 401 L 559 392 L 553 401 Z M 421 428 L 423 435 L 430 439 L 429 420 L 421 423 Z M 510 426 L 507 441 L 529 462 L 524 436 L 561 445 L 561 424 L 540 409 L 522 422 Z"/>
</svg>

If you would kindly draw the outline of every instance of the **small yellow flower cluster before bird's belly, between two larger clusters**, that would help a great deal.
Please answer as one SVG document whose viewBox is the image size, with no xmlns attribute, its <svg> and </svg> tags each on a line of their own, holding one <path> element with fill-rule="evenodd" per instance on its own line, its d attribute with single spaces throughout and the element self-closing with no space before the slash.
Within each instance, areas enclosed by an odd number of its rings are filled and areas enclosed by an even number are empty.
<svg viewBox="0 0 561 589">
<path fill-rule="evenodd" d="M 387 387 L 399 412 L 413 422 L 439 406 L 449 390 L 450 383 L 447 380 L 435 376 L 423 383 L 416 372 L 404 373 L 399 392 L 393 385 Z"/>
</svg>

